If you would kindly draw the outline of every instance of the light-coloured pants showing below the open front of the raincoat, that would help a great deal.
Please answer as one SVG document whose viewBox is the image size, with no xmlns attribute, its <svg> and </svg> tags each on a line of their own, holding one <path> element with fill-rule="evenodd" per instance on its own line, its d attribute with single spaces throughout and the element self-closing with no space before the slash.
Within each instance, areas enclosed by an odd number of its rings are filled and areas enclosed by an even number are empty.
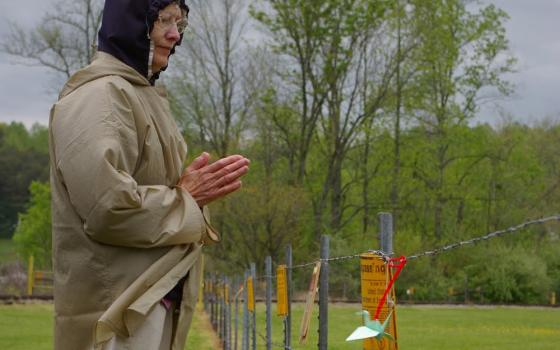
<svg viewBox="0 0 560 350">
<path fill-rule="evenodd" d="M 115 336 L 103 350 L 170 350 L 172 329 L 173 307 L 157 304 L 132 337 Z"/>
</svg>

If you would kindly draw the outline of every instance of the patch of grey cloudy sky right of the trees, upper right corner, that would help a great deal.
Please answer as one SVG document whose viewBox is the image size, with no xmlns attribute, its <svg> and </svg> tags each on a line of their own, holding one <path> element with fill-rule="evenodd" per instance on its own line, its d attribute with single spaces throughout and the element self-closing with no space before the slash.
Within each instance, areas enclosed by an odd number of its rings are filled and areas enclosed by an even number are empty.
<svg viewBox="0 0 560 350">
<path fill-rule="evenodd" d="M 514 120 L 532 123 L 553 117 L 560 120 L 560 36 L 558 27 L 560 0 L 492 0 L 505 10 L 511 52 L 518 58 L 518 72 L 509 77 L 516 85 L 514 96 L 500 102 Z M 493 113 L 493 115 L 492 115 Z M 483 108 L 481 120 L 495 122 L 496 109 Z M 491 115 L 491 117 L 489 117 Z"/>
</svg>

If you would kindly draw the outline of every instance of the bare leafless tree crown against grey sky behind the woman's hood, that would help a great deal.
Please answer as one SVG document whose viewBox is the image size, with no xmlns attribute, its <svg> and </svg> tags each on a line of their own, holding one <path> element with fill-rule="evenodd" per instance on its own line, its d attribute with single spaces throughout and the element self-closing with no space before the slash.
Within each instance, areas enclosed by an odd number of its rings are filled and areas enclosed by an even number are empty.
<svg viewBox="0 0 560 350">
<path fill-rule="evenodd" d="M 47 67 L 67 79 L 91 62 L 102 9 L 101 0 L 58 0 L 33 29 L 11 23 L 0 50 L 18 64 Z"/>
</svg>

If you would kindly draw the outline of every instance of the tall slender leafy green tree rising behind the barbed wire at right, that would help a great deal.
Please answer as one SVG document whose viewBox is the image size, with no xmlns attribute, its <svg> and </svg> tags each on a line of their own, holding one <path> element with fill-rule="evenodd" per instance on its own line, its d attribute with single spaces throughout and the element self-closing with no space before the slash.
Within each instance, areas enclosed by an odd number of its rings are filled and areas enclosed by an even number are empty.
<svg viewBox="0 0 560 350">
<path fill-rule="evenodd" d="M 507 55 L 506 13 L 493 5 L 471 13 L 460 0 L 415 1 L 415 28 L 421 40 L 415 76 L 416 117 L 428 142 L 417 148 L 415 175 L 430 193 L 433 234 L 443 237 L 445 208 L 454 201 L 451 167 L 460 160 L 477 164 L 484 153 L 459 146 L 457 132 L 488 98 L 483 92 L 511 92 L 504 74 L 515 60 Z M 486 89 L 486 90 L 485 90 Z M 448 212 L 447 212 L 448 213 Z"/>
</svg>

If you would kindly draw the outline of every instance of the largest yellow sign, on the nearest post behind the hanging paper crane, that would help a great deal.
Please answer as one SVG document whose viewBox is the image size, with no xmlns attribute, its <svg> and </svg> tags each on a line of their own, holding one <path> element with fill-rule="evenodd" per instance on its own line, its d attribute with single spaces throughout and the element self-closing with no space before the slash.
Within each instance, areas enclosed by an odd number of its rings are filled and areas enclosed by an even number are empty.
<svg viewBox="0 0 560 350">
<path fill-rule="evenodd" d="M 383 297 L 387 284 L 391 279 L 391 271 L 387 268 L 387 265 L 385 264 L 385 261 L 383 261 L 382 257 L 373 253 L 361 255 L 360 271 L 362 284 L 362 309 L 367 310 L 370 317 L 373 319 L 379 300 Z M 399 348 L 397 343 L 397 313 L 395 310 L 396 299 L 394 289 L 390 295 L 390 301 L 388 300 L 381 309 L 379 322 L 383 323 L 389 314 L 389 311 L 393 310 L 386 332 L 391 334 L 395 340 L 392 341 L 387 338 L 383 338 L 383 340 L 369 338 L 364 340 L 365 350 L 398 350 Z"/>
</svg>

